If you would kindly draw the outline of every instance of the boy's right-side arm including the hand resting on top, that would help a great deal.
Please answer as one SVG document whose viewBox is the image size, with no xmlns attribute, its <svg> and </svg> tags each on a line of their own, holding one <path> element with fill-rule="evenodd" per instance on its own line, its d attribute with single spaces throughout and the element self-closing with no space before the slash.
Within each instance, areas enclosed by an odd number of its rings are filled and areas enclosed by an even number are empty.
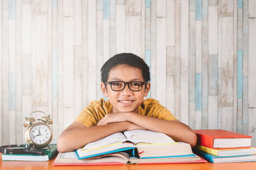
<svg viewBox="0 0 256 170">
<path fill-rule="evenodd" d="M 189 143 L 192 147 L 196 145 L 196 134 L 188 125 L 179 120 L 163 120 L 147 117 L 138 113 L 111 113 L 107 114 L 98 125 L 107 125 L 115 122 L 129 121 L 141 127 L 156 132 L 167 134 L 175 141 Z"/>
</svg>

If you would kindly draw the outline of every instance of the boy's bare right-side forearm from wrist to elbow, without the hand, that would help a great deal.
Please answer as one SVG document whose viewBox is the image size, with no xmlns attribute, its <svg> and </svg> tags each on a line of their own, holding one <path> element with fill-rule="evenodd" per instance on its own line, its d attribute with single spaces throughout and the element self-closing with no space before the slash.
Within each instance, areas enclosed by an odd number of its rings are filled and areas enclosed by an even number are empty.
<svg viewBox="0 0 256 170">
<path fill-rule="evenodd" d="M 183 141 L 189 143 L 191 146 L 196 145 L 195 132 L 188 125 L 178 120 L 168 121 L 132 113 L 129 115 L 129 121 L 150 131 L 163 132 L 176 141 Z"/>
</svg>

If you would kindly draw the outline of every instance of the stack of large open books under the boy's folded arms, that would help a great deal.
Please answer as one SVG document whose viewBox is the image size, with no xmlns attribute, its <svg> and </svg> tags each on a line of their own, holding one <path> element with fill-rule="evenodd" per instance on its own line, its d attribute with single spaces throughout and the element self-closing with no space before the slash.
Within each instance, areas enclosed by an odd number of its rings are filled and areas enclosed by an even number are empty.
<svg viewBox="0 0 256 170">
<path fill-rule="evenodd" d="M 88 143 L 74 152 L 59 153 L 54 166 L 170 164 L 206 162 L 188 143 L 175 142 L 163 133 L 125 131 Z"/>
</svg>

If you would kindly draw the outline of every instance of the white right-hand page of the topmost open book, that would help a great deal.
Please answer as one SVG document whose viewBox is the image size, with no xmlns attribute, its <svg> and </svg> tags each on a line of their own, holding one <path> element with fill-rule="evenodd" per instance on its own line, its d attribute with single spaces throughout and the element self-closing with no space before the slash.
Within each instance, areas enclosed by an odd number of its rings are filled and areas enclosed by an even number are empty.
<svg viewBox="0 0 256 170">
<path fill-rule="evenodd" d="M 157 145 L 163 143 L 175 143 L 172 138 L 160 132 L 134 130 L 125 131 L 124 135 L 128 141 L 132 141 L 133 143 L 152 143 Z"/>
</svg>

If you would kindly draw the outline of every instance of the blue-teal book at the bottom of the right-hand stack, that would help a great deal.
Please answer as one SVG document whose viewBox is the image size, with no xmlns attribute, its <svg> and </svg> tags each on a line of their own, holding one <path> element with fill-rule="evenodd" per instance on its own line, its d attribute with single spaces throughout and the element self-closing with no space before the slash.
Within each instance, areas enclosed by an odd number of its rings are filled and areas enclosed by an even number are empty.
<svg viewBox="0 0 256 170">
<path fill-rule="evenodd" d="M 255 162 L 256 155 L 235 155 L 235 156 L 225 156 L 219 157 L 216 155 L 212 155 L 210 153 L 202 152 L 200 150 L 193 150 L 193 152 L 202 157 L 205 160 L 208 160 L 212 163 L 229 163 L 229 162 Z"/>
</svg>

